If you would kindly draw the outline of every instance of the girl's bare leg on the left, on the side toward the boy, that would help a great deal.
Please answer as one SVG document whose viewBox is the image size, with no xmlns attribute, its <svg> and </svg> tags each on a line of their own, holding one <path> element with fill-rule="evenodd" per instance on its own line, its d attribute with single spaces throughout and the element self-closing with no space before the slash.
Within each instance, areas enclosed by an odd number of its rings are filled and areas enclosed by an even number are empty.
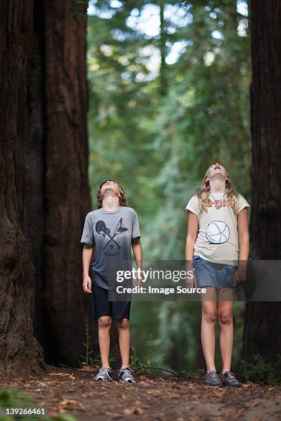
<svg viewBox="0 0 281 421">
<path fill-rule="evenodd" d="M 207 296 L 207 297 L 206 297 Z M 217 317 L 216 288 L 208 287 L 207 294 L 201 300 L 201 343 L 207 373 L 216 370 L 215 365 L 215 323 Z M 208 301 L 207 301 L 208 300 Z"/>
</svg>

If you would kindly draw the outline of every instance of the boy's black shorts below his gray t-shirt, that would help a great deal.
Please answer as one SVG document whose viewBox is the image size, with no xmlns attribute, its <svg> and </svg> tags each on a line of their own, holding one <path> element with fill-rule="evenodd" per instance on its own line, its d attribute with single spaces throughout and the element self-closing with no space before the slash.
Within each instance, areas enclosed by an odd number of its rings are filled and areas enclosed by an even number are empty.
<svg viewBox="0 0 281 421">
<path fill-rule="evenodd" d="M 108 301 L 108 290 L 93 283 L 94 319 L 110 316 L 114 320 L 129 319 L 131 301 Z"/>
</svg>

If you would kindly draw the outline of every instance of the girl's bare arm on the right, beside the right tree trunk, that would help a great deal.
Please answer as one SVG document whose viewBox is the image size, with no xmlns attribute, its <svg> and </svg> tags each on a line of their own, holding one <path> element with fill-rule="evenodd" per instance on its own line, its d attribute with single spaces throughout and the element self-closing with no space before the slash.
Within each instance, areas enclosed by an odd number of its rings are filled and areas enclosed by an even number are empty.
<svg viewBox="0 0 281 421">
<path fill-rule="evenodd" d="M 239 264 L 234 275 L 235 285 L 242 283 L 246 279 L 247 260 L 249 257 L 249 224 L 248 209 L 244 208 L 237 215 L 237 228 L 239 238 Z"/>
</svg>

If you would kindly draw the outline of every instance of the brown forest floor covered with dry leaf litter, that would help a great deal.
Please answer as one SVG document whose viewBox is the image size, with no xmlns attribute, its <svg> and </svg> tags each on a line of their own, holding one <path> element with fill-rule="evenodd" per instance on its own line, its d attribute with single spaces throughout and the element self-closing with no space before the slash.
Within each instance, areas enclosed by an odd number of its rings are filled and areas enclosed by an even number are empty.
<svg viewBox="0 0 281 421">
<path fill-rule="evenodd" d="M 32 401 L 44 407 L 47 415 L 71 414 L 76 420 L 281 419 L 280 386 L 250 383 L 240 388 L 207 387 L 199 380 L 141 373 L 136 374 L 135 385 L 123 385 L 118 381 L 95 382 L 90 367 L 48 368 L 43 376 L 1 378 L 0 389 L 13 387 L 32 393 Z"/>
</svg>

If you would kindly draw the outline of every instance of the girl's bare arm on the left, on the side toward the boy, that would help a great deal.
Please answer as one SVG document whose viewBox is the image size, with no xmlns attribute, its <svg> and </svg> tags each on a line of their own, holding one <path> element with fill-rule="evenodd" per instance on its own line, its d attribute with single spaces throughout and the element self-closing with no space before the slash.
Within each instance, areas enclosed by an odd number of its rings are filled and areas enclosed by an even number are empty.
<svg viewBox="0 0 281 421">
<path fill-rule="evenodd" d="M 186 270 L 193 270 L 194 244 L 198 233 L 198 217 L 188 210 L 187 214 L 187 238 L 185 240 Z M 196 288 L 196 279 L 187 277 L 187 285 Z"/>
</svg>

